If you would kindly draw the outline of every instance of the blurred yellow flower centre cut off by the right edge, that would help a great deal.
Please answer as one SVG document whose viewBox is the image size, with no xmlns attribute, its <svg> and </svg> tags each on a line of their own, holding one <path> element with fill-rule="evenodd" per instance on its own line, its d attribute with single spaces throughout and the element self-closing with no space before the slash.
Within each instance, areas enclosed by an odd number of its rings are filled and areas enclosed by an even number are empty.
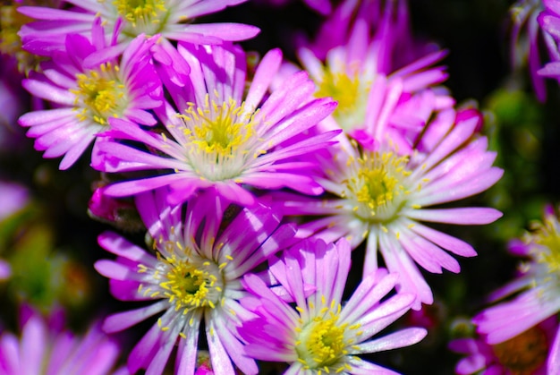
<svg viewBox="0 0 560 375">
<path fill-rule="evenodd" d="M 548 272 L 558 274 L 560 271 L 560 234 L 556 217 L 550 215 L 545 217 L 543 223 L 534 223 L 530 240 L 539 244 L 539 248 L 533 251 L 533 255 L 540 263 L 547 265 Z"/>
</svg>

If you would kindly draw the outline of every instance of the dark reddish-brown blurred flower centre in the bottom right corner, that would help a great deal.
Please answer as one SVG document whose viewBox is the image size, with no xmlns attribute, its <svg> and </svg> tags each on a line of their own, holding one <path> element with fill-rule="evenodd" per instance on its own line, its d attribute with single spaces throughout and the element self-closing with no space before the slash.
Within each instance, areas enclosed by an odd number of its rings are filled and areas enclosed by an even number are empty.
<svg viewBox="0 0 560 375">
<path fill-rule="evenodd" d="M 498 361 L 513 375 L 530 375 L 547 360 L 547 337 L 540 328 L 533 327 L 493 345 L 492 349 Z"/>
</svg>

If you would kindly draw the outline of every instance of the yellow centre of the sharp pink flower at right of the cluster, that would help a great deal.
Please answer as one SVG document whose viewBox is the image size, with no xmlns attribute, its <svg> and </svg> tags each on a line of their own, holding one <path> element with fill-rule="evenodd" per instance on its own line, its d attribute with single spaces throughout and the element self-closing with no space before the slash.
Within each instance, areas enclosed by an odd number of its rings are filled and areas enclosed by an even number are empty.
<svg viewBox="0 0 560 375">
<path fill-rule="evenodd" d="M 364 152 L 352 160 L 352 176 L 344 180 L 348 190 L 343 198 L 354 201 L 355 215 L 375 223 L 393 220 L 410 193 L 407 163 L 407 157 L 394 152 Z"/>
</svg>

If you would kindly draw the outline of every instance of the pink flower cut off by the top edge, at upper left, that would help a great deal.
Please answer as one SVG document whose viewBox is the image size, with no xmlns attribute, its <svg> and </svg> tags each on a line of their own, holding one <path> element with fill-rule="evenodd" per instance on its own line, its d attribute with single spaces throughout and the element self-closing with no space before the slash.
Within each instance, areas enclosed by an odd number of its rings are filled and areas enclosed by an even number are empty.
<svg viewBox="0 0 560 375">
<path fill-rule="evenodd" d="M 109 29 L 122 28 L 119 45 L 125 46 L 140 35 L 195 44 L 219 44 L 223 40 L 252 38 L 259 29 L 239 23 L 193 23 L 200 16 L 216 13 L 246 0 L 69 0 L 71 9 L 21 6 L 18 11 L 38 21 L 21 28 L 23 47 L 37 55 L 64 45 L 67 33 L 87 35 L 97 17 Z"/>
</svg>

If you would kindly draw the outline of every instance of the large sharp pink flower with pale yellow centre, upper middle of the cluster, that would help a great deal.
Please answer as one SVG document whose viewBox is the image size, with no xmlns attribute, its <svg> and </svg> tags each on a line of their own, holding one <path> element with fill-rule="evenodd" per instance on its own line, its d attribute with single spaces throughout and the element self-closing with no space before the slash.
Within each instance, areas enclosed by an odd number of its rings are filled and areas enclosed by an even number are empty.
<svg viewBox="0 0 560 375">
<path fill-rule="evenodd" d="M 241 47 L 185 44 L 179 53 L 191 65 L 191 74 L 182 86 L 163 78 L 176 107 L 169 104 L 159 113 L 165 132 L 111 119 L 112 129 L 105 133 L 111 139 L 98 142 L 98 159 L 92 163 L 108 173 L 155 169 L 159 175 L 114 183 L 106 194 L 130 196 L 168 185 L 170 201 L 180 202 L 199 188 L 215 186 L 227 199 L 249 205 L 255 201 L 249 186 L 288 187 L 314 195 L 323 191 L 312 178 L 315 164 L 298 158 L 333 143 L 339 131 L 307 132 L 332 113 L 336 103 L 312 99 L 314 83 L 305 72 L 293 74 L 265 98 L 282 60 L 279 50 L 263 57 L 247 94 Z M 162 170 L 169 173 L 162 175 Z"/>
</svg>

